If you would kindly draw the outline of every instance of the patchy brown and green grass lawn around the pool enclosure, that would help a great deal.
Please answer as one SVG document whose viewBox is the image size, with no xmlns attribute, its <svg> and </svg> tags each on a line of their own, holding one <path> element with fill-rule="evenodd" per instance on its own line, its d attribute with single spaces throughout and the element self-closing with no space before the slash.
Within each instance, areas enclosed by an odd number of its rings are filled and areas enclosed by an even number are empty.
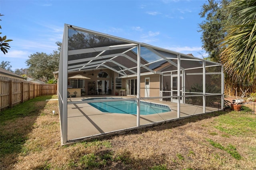
<svg viewBox="0 0 256 170">
<path fill-rule="evenodd" d="M 58 101 L 46 101 L 53 98 L 0 112 L 0 169 L 256 169 L 256 115 L 248 109 L 61 146 Z"/>
</svg>

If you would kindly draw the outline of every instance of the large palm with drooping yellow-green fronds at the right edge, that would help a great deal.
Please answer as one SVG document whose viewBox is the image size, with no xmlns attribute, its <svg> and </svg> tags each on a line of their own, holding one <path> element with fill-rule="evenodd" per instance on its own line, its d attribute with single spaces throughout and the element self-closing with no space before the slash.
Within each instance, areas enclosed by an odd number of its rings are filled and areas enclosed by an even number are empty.
<svg viewBox="0 0 256 170">
<path fill-rule="evenodd" d="M 255 85 L 256 0 L 235 0 L 228 8 L 232 25 L 227 27 L 221 60 L 232 82 Z"/>
</svg>

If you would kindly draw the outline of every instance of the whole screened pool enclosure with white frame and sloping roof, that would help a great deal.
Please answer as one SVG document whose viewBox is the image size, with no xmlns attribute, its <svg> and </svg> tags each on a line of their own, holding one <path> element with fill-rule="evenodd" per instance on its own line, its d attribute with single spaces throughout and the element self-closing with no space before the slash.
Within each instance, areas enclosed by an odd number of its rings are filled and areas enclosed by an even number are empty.
<svg viewBox="0 0 256 170">
<path fill-rule="evenodd" d="M 64 25 L 62 144 L 223 109 L 219 63 Z"/>
</svg>

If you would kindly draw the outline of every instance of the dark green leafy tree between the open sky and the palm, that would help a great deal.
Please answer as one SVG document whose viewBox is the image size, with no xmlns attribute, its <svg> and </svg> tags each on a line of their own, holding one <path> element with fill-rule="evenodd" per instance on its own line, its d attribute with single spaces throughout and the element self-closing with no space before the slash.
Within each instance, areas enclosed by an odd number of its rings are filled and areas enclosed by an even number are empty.
<svg viewBox="0 0 256 170">
<path fill-rule="evenodd" d="M 208 0 L 208 4 L 203 4 L 199 13 L 201 18 L 206 17 L 199 24 L 198 32 L 202 32 L 202 48 L 208 53 L 206 59 L 210 61 L 220 62 L 220 53 L 223 50 L 220 41 L 226 36 L 224 28 L 228 20 L 226 6 L 229 3 L 230 0 Z"/>
</svg>

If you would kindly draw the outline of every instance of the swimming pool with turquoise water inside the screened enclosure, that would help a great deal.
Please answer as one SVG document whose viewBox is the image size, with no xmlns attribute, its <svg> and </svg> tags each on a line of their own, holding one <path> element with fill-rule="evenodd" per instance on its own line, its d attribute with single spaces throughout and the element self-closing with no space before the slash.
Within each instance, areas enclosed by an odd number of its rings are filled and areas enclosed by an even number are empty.
<svg viewBox="0 0 256 170">
<path fill-rule="evenodd" d="M 91 98 L 91 99 L 82 99 L 83 101 L 88 100 L 102 100 L 102 99 L 118 99 L 118 98 Z M 121 99 L 121 98 L 119 98 Z M 106 101 L 106 102 L 96 102 L 88 103 L 89 105 L 95 107 L 96 109 L 106 112 L 106 113 L 123 113 L 123 114 L 137 114 L 137 101 Z M 156 113 L 164 113 L 171 111 L 168 105 L 159 105 L 156 103 L 148 103 L 140 101 L 140 115 L 151 115 Z"/>
</svg>

